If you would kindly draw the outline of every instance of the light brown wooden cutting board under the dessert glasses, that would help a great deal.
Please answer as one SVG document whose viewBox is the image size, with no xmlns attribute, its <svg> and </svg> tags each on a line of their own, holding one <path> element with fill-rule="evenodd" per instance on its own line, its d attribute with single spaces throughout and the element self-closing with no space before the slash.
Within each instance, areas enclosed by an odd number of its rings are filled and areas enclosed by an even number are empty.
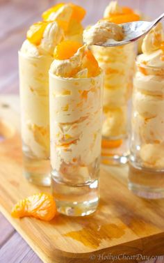
<svg viewBox="0 0 164 263">
<path fill-rule="evenodd" d="M 101 201 L 92 216 L 60 215 L 50 223 L 10 216 L 20 198 L 50 191 L 33 186 L 22 176 L 18 107 L 17 97 L 0 98 L 0 210 L 42 261 L 113 262 L 120 255 L 115 262 L 140 262 L 145 260 L 141 255 L 162 255 L 164 202 L 133 195 L 126 187 L 127 166 L 101 167 Z M 127 255 L 133 258 L 127 261 Z"/>
</svg>

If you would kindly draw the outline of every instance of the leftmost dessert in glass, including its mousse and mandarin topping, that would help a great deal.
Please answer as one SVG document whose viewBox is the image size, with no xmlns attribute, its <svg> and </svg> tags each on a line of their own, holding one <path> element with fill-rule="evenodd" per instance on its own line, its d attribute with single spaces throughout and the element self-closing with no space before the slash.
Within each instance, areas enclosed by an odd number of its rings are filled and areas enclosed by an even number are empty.
<svg viewBox="0 0 164 263">
<path fill-rule="evenodd" d="M 65 38 L 82 38 L 83 15 L 83 8 L 69 3 L 50 8 L 43 13 L 42 22 L 28 29 L 27 39 L 19 51 L 24 175 L 38 185 L 49 186 L 51 183 L 49 68 L 54 60 L 54 48 Z M 72 24 L 76 26 L 72 27 Z"/>
</svg>

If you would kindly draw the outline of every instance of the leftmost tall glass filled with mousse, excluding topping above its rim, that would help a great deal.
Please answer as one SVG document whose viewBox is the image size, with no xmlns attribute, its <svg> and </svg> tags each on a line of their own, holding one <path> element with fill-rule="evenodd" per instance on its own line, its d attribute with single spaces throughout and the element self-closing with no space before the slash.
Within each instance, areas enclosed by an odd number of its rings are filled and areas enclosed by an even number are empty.
<svg viewBox="0 0 164 263">
<path fill-rule="evenodd" d="M 19 51 L 24 175 L 31 183 L 49 186 L 49 56 L 29 57 Z"/>
</svg>

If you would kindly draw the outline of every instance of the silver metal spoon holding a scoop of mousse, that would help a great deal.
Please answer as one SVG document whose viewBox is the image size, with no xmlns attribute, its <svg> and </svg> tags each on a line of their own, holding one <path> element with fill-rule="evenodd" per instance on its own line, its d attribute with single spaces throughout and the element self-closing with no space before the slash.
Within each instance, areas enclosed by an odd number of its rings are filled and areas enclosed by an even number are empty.
<svg viewBox="0 0 164 263">
<path fill-rule="evenodd" d="M 103 47 L 117 47 L 119 45 L 126 45 L 130 42 L 138 40 L 142 36 L 145 36 L 156 24 L 164 17 L 164 13 L 156 18 L 154 21 L 136 21 L 120 24 L 124 32 L 124 40 L 116 41 L 113 39 L 107 40 L 99 46 Z M 97 45 L 97 44 L 95 44 Z"/>
</svg>

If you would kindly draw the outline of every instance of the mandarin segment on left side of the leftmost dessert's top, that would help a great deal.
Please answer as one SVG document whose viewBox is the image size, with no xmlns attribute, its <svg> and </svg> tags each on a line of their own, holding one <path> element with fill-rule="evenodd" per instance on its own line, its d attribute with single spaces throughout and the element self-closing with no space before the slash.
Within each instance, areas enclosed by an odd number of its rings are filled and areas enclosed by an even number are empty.
<svg viewBox="0 0 164 263">
<path fill-rule="evenodd" d="M 42 35 L 49 22 L 38 22 L 32 24 L 26 33 L 26 38 L 34 45 L 40 45 Z"/>
</svg>

